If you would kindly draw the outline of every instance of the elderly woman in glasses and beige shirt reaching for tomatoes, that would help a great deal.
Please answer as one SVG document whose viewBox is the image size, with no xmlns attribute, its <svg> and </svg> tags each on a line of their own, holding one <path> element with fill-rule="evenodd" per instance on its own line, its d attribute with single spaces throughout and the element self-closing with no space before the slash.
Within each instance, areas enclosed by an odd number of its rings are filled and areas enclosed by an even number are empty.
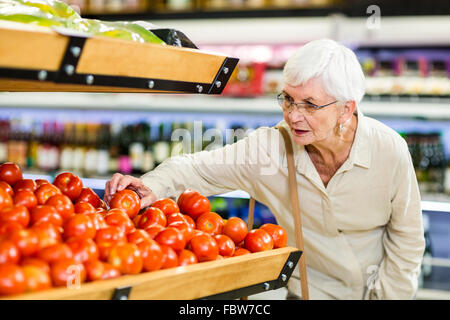
<svg viewBox="0 0 450 320">
<path fill-rule="evenodd" d="M 408 147 L 363 115 L 364 75 L 332 40 L 300 48 L 278 95 L 294 148 L 312 299 L 410 299 L 424 251 L 420 195 Z M 262 127 L 223 148 L 173 157 L 140 179 L 115 174 L 108 201 L 130 188 L 148 206 L 186 188 L 205 195 L 244 190 L 267 205 L 295 246 L 286 149 Z M 298 270 L 288 288 L 300 294 Z"/>
</svg>

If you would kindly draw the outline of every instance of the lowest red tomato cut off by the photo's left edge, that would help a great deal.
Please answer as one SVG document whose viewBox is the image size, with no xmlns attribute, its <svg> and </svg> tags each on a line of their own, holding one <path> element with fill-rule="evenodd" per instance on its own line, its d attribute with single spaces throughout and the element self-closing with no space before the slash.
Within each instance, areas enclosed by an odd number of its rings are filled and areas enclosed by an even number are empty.
<svg viewBox="0 0 450 320">
<path fill-rule="evenodd" d="M 14 264 L 0 264 L 0 295 L 19 294 L 26 290 L 22 267 Z"/>
</svg>

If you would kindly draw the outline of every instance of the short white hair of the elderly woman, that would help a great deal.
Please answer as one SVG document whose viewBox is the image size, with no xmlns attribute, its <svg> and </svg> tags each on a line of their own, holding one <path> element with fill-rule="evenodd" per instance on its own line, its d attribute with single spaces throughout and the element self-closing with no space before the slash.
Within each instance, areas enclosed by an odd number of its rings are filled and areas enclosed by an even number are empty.
<svg viewBox="0 0 450 320">
<path fill-rule="evenodd" d="M 330 39 L 308 42 L 289 58 L 283 71 L 284 82 L 303 85 L 319 78 L 325 92 L 340 103 L 356 101 L 365 92 L 361 65 L 352 50 Z"/>
</svg>

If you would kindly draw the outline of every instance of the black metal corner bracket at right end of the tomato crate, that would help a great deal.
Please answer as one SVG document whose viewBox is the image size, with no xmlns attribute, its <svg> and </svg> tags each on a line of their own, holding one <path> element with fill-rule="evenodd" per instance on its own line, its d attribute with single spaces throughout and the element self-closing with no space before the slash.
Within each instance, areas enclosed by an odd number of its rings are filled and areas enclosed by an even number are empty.
<svg viewBox="0 0 450 320">
<path fill-rule="evenodd" d="M 286 263 L 284 264 L 283 268 L 281 269 L 280 275 L 275 280 L 266 281 L 266 282 L 254 284 L 254 285 L 251 285 L 248 287 L 214 294 L 211 296 L 200 298 L 200 300 L 238 299 L 240 297 L 250 296 L 253 294 L 257 294 L 257 293 L 282 288 L 287 285 L 287 282 L 290 279 L 292 272 L 294 272 L 295 266 L 297 265 L 298 260 L 300 260 L 301 255 L 302 255 L 302 251 L 300 251 L 300 250 L 291 252 L 288 259 L 286 260 Z"/>
</svg>

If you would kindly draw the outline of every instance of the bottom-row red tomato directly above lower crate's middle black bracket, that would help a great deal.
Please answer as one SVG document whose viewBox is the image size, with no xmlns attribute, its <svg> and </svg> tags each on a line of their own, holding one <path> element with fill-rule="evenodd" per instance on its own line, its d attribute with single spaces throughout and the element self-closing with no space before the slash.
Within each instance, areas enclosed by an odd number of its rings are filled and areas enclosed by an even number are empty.
<svg viewBox="0 0 450 320">
<path fill-rule="evenodd" d="M 122 274 L 137 274 L 143 268 L 141 252 L 133 243 L 113 245 L 109 252 L 108 263 L 119 269 Z"/>
</svg>

